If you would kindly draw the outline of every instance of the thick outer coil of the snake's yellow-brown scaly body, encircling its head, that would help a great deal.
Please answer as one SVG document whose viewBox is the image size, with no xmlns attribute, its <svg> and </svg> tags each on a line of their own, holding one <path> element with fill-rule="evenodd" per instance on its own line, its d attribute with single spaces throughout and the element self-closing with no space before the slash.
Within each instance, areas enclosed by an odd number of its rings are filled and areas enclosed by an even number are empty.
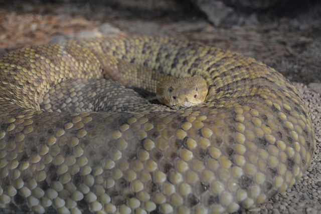
<svg viewBox="0 0 321 214">
<path fill-rule="evenodd" d="M 178 111 L 40 110 L 61 81 L 101 78 L 107 54 L 203 76 L 206 101 Z M 3 210 L 233 212 L 291 186 L 314 153 L 294 87 L 240 54 L 169 38 L 88 39 L 10 52 L 0 69 Z"/>
</svg>

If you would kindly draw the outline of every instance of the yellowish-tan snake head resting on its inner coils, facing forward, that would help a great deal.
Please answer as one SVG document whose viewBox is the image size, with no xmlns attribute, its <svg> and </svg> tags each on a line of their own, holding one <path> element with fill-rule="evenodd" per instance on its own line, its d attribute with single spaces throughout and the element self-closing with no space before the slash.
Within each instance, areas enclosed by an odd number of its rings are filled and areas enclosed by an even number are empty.
<svg viewBox="0 0 321 214">
<path fill-rule="evenodd" d="M 201 76 L 159 81 L 156 97 L 159 102 L 173 109 L 187 108 L 204 102 L 208 88 Z"/>
</svg>

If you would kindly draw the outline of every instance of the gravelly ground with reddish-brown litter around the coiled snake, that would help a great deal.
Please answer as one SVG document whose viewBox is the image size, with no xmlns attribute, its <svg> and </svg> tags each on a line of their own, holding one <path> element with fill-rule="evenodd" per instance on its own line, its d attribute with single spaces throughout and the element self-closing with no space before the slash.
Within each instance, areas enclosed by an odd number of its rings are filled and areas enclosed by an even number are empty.
<svg viewBox="0 0 321 214">
<path fill-rule="evenodd" d="M 249 24 L 217 28 L 193 7 L 183 8 L 172 1 L 142 9 L 130 4 L 77 2 L 0 1 L 0 54 L 65 38 L 122 34 L 189 39 L 263 61 L 301 92 L 315 128 L 317 146 L 312 164 L 292 188 L 241 213 L 321 213 L 321 4 L 294 16 L 253 14 Z"/>
</svg>

